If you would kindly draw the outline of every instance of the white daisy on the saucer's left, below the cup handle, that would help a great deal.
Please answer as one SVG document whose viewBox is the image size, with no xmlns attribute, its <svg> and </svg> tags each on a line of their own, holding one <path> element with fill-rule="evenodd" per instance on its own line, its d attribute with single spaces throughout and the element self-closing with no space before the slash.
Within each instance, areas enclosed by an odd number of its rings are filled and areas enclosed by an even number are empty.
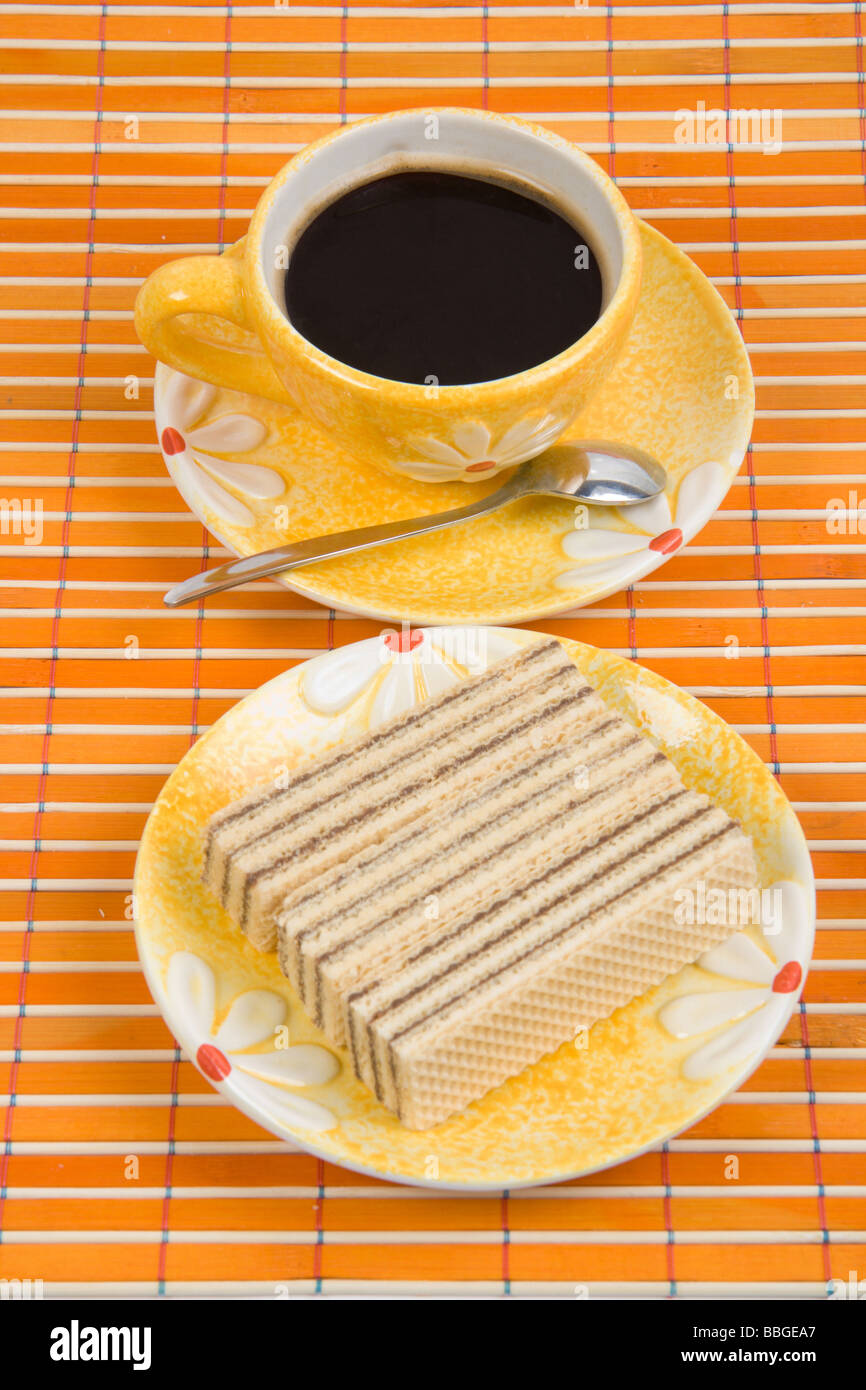
<svg viewBox="0 0 866 1390">
<path fill-rule="evenodd" d="M 242 498 L 278 498 L 285 492 L 285 482 L 274 468 L 218 459 L 210 452 L 246 453 L 268 434 L 261 420 L 238 411 L 204 421 L 217 395 L 217 388 L 209 382 L 172 371 L 163 395 L 163 416 L 168 424 L 163 425 L 160 445 L 181 492 L 192 495 L 200 509 L 215 513 L 221 521 L 253 525 L 256 517 Z"/>
</svg>

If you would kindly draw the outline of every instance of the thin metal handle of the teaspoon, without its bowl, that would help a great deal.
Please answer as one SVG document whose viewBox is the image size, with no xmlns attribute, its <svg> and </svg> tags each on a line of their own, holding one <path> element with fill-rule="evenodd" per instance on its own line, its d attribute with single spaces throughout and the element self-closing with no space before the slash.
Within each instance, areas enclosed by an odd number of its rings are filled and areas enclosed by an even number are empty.
<svg viewBox="0 0 866 1390">
<path fill-rule="evenodd" d="M 496 507 L 502 507 L 506 502 L 521 495 L 520 484 L 514 478 L 509 478 L 496 492 L 481 498 L 480 502 L 470 502 L 466 507 L 436 512 L 428 517 L 409 517 L 406 521 L 385 521 L 382 525 L 366 525 L 354 531 L 336 531 L 334 535 L 317 535 L 309 541 L 296 541 L 293 545 L 278 545 L 272 550 L 261 550 L 259 555 L 247 555 L 242 560 L 229 560 L 228 564 L 221 564 L 215 570 L 193 574 L 189 580 L 168 589 L 163 603 L 168 607 L 179 607 L 182 603 L 193 603 L 196 599 L 207 598 L 209 594 L 234 589 L 238 584 L 264 580 L 271 574 L 285 574 L 286 570 L 296 570 L 313 560 L 334 560 L 339 555 L 368 550 L 375 545 L 403 541 L 410 535 L 442 531 L 445 527 L 484 516 L 485 512 L 495 512 Z"/>
</svg>

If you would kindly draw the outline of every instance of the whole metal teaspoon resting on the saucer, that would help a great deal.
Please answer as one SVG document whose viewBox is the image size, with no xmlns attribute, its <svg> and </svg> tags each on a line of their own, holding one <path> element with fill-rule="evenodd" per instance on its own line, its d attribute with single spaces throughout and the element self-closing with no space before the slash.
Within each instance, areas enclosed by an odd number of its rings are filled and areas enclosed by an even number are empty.
<svg viewBox="0 0 866 1390">
<path fill-rule="evenodd" d="M 207 598 L 209 594 L 232 589 L 238 584 L 296 570 L 302 564 L 311 564 L 313 560 L 332 560 L 338 555 L 368 550 L 374 545 L 388 545 L 389 541 L 403 541 L 410 535 L 442 531 L 460 521 L 481 517 L 487 512 L 496 512 L 517 498 L 567 498 L 571 502 L 595 506 L 628 507 L 657 496 L 664 491 L 664 468 L 642 449 L 595 439 L 557 443 L 523 463 L 496 492 L 481 498 L 480 502 L 470 502 L 466 507 L 453 507 L 450 512 L 438 512 L 428 517 L 385 521 L 382 525 L 318 535 L 310 541 L 296 541 L 293 545 L 278 545 L 274 550 L 247 555 L 243 560 L 231 560 L 204 574 L 193 574 L 192 578 L 168 589 L 163 602 L 168 607 L 179 607 L 181 603 L 192 603 Z"/>
</svg>

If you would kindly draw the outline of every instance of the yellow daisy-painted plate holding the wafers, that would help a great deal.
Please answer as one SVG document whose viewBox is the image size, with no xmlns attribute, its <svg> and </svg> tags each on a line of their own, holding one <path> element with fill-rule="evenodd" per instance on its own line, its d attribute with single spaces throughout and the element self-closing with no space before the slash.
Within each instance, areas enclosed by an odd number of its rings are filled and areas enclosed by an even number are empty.
<svg viewBox="0 0 866 1390">
<path fill-rule="evenodd" d="M 357 1172 L 448 1188 L 550 1183 L 623 1162 L 735 1090 L 783 1031 L 815 935 L 806 844 L 781 788 L 719 716 L 620 656 L 560 639 L 577 667 L 713 796 L 755 844 L 763 929 L 735 933 L 581 1041 L 432 1130 L 405 1130 L 313 1027 L 274 955 L 254 951 L 200 883 L 217 808 L 425 698 L 425 666 L 464 678 L 538 634 L 382 632 L 285 671 L 186 753 L 147 820 L 136 940 L 183 1052 L 227 1102 L 284 1140 Z M 709 909 L 708 909 L 709 910 Z"/>
</svg>

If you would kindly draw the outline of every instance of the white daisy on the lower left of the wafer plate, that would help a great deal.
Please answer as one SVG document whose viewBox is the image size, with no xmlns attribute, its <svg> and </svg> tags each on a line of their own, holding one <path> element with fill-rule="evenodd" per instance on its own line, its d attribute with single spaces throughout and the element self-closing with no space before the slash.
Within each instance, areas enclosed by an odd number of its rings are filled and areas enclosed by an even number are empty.
<svg viewBox="0 0 866 1390">
<path fill-rule="evenodd" d="M 165 990 L 172 1017 L 185 1022 L 195 1042 L 193 1059 L 207 1080 L 220 1090 L 234 1079 L 238 1095 L 249 1095 L 274 1112 L 281 1123 L 328 1130 L 335 1116 L 324 1105 L 286 1087 L 325 1086 L 339 1072 L 339 1062 L 324 1047 L 297 1042 L 270 1052 L 250 1048 L 274 1042 L 285 1026 L 289 1009 L 272 990 L 245 990 L 214 1031 L 217 981 L 213 969 L 192 951 L 175 951 L 168 962 Z"/>
</svg>

